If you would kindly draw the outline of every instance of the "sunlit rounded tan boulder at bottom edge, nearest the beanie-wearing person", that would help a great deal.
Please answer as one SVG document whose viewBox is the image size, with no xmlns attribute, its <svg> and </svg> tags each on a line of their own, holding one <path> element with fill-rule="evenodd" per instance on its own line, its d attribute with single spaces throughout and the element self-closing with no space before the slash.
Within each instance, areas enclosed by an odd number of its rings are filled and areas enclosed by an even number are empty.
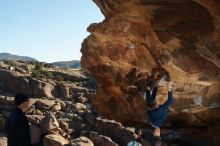
<svg viewBox="0 0 220 146">
<path fill-rule="evenodd" d="M 43 141 L 44 146 L 65 146 L 68 144 L 68 141 L 58 134 L 46 135 Z"/>
</svg>

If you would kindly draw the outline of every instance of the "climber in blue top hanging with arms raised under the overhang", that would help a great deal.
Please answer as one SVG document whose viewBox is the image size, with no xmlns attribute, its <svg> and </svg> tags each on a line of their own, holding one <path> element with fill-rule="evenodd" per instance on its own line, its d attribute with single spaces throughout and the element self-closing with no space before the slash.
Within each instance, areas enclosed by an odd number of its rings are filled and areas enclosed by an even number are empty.
<svg viewBox="0 0 220 146">
<path fill-rule="evenodd" d="M 154 88 L 152 90 L 152 94 L 150 91 L 151 81 L 147 81 L 147 90 L 146 90 L 146 100 L 147 100 L 147 113 L 148 119 L 147 122 L 151 128 L 153 128 L 153 136 L 160 137 L 160 127 L 163 125 L 169 106 L 173 103 L 173 96 L 172 96 L 172 82 L 170 76 L 166 76 L 166 80 L 168 83 L 168 99 L 163 105 L 158 105 L 155 101 L 157 95 L 157 86 L 159 80 L 156 81 Z"/>
</svg>

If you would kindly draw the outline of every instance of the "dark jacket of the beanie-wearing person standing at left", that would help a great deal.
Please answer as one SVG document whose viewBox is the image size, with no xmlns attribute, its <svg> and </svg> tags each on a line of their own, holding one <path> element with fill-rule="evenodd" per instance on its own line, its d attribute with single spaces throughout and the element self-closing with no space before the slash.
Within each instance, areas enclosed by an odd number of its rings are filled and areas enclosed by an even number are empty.
<svg viewBox="0 0 220 146">
<path fill-rule="evenodd" d="M 7 135 L 8 146 L 32 146 L 28 120 L 18 108 L 8 118 Z"/>
</svg>

